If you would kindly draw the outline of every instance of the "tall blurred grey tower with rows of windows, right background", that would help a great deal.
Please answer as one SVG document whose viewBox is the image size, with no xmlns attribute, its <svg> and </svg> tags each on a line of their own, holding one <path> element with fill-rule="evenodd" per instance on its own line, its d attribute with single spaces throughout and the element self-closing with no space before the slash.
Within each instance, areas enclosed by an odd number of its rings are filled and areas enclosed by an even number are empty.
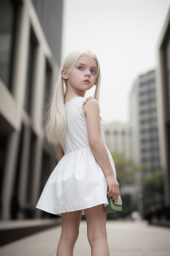
<svg viewBox="0 0 170 256">
<path fill-rule="evenodd" d="M 135 163 L 145 165 L 143 173 L 160 169 L 154 70 L 135 79 L 129 97 L 129 123 Z"/>
</svg>

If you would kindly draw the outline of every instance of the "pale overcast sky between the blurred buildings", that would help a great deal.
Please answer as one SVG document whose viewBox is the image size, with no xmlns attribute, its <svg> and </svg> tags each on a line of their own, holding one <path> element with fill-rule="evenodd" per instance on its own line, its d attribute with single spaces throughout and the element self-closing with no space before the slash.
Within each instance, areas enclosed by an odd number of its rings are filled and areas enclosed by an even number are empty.
<svg viewBox="0 0 170 256">
<path fill-rule="evenodd" d="M 76 49 L 96 53 L 103 122 L 128 122 L 129 92 L 138 75 L 157 67 L 169 7 L 170 0 L 64 0 L 61 61 Z"/>
</svg>

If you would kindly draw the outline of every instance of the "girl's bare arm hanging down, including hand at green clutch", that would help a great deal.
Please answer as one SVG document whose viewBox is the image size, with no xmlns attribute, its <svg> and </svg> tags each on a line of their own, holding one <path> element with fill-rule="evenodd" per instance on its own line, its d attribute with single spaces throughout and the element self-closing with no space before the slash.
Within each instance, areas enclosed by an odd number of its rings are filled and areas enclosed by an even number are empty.
<svg viewBox="0 0 170 256">
<path fill-rule="evenodd" d="M 108 195 L 113 197 L 113 200 L 118 200 L 119 183 L 114 177 L 112 165 L 108 156 L 108 151 L 102 141 L 100 130 L 100 109 L 96 99 L 88 99 L 84 104 L 84 111 L 86 113 L 88 140 L 92 153 L 104 172 L 106 183 L 108 184 Z"/>
</svg>

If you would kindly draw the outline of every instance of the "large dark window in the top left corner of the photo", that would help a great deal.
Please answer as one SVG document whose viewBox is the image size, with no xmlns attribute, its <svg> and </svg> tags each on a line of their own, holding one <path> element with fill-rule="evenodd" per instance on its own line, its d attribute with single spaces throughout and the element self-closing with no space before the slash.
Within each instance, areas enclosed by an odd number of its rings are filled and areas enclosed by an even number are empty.
<svg viewBox="0 0 170 256">
<path fill-rule="evenodd" d="M 17 28 L 17 1 L 0 1 L 0 79 L 12 91 L 13 57 Z"/>
</svg>

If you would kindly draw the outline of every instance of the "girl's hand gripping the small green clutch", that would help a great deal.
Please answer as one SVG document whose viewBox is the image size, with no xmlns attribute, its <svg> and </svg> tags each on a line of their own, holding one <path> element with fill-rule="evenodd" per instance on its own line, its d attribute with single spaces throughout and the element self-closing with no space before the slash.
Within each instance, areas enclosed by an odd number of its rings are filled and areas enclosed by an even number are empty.
<svg viewBox="0 0 170 256">
<path fill-rule="evenodd" d="M 118 202 L 118 197 L 120 195 L 120 185 L 116 178 L 114 177 L 114 174 L 109 175 L 106 177 L 106 183 L 108 184 L 109 190 L 108 190 L 108 197 L 112 197 L 113 201 L 116 200 Z"/>
</svg>

